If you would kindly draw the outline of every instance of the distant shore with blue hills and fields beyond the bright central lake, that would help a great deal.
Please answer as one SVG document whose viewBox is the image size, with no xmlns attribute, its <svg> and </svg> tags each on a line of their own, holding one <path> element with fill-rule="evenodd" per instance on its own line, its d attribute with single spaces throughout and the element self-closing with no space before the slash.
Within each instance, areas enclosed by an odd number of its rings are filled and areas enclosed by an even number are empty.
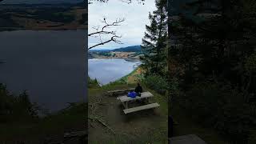
<svg viewBox="0 0 256 144">
<path fill-rule="evenodd" d="M 141 46 L 127 46 L 114 50 L 89 50 L 88 58 L 123 58 L 139 59 L 142 56 Z"/>
</svg>

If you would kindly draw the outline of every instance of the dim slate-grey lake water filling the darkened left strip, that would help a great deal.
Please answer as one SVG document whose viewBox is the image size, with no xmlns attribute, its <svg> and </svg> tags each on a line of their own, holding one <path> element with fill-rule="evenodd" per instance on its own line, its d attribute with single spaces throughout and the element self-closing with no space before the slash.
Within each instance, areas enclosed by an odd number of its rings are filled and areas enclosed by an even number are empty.
<svg viewBox="0 0 256 144">
<path fill-rule="evenodd" d="M 86 31 L 0 32 L 0 82 L 51 111 L 86 99 Z"/>
</svg>

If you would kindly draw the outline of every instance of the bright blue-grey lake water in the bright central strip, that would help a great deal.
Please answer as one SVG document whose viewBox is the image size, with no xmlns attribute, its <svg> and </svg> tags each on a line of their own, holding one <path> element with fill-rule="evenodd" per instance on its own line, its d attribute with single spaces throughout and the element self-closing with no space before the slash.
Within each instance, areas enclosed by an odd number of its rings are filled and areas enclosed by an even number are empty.
<svg viewBox="0 0 256 144">
<path fill-rule="evenodd" d="M 114 82 L 130 74 L 140 62 L 125 59 L 89 59 L 88 74 L 90 78 L 97 78 L 100 84 Z"/>
</svg>

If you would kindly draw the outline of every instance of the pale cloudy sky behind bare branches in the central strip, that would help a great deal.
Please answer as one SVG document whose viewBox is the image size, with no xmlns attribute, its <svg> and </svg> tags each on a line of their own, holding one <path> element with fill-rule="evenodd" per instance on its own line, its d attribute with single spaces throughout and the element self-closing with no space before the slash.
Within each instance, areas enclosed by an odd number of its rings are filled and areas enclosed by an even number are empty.
<svg viewBox="0 0 256 144">
<path fill-rule="evenodd" d="M 142 44 L 142 38 L 145 33 L 146 24 L 150 24 L 148 19 L 149 12 L 153 12 L 156 7 L 154 5 L 154 0 L 146 1 L 144 5 L 139 4 L 136 0 L 134 2 L 127 4 L 126 2 L 121 2 L 121 0 L 110 0 L 106 3 L 94 2 L 88 6 L 88 29 L 89 34 L 95 32 L 93 27 L 103 26 L 101 22 L 103 18 L 106 18 L 106 22 L 114 22 L 117 18 L 125 18 L 125 21 L 121 23 L 121 26 L 114 26 L 122 44 L 115 42 L 106 43 L 103 46 L 94 47 L 92 50 L 110 50 L 126 46 L 135 46 Z M 108 40 L 109 37 L 102 37 L 102 42 Z M 94 46 L 100 42 L 99 38 L 89 37 L 88 46 Z"/>
</svg>

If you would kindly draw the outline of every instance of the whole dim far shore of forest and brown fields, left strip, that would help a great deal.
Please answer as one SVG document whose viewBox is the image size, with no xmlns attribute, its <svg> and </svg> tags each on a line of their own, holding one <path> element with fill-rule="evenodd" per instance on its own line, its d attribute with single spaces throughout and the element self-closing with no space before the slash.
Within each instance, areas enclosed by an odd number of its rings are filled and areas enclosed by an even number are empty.
<svg viewBox="0 0 256 144">
<path fill-rule="evenodd" d="M 1 4 L 0 31 L 86 30 L 84 3 Z"/>
</svg>

